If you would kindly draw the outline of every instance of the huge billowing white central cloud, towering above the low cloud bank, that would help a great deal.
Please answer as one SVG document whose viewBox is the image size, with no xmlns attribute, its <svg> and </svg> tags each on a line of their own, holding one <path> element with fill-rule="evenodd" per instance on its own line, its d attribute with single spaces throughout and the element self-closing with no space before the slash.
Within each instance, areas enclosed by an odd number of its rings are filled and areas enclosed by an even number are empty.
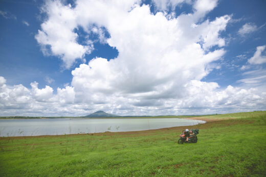
<svg viewBox="0 0 266 177">
<path fill-rule="evenodd" d="M 105 9 L 105 6 L 112 7 L 104 3 L 100 7 Z M 77 4 L 76 9 L 85 14 L 91 12 L 87 7 L 100 12 L 91 4 Z M 182 97 L 180 92 L 185 89 L 184 85 L 205 77 L 209 72 L 207 64 L 225 54 L 224 49 L 213 52 L 208 49 L 224 45 L 219 32 L 225 30 L 229 16 L 206 20 L 192 27 L 194 18 L 191 15 L 183 14 L 168 20 L 161 12 L 151 14 L 148 6 L 120 12 L 125 15 L 113 13 L 119 9 L 109 11 L 106 7 L 106 14 L 96 16 L 103 20 L 94 23 L 108 30 L 111 37 L 107 43 L 116 47 L 119 55 L 110 61 L 95 58 L 72 71 L 72 86 L 80 102 L 98 103 L 106 95 L 113 94 L 132 97 L 132 101 L 138 99 L 137 103 L 142 99 Z M 91 13 L 88 15 L 95 15 Z M 116 22 L 117 16 L 119 23 Z M 84 27 L 88 26 L 86 20 L 90 22 L 91 19 L 82 20 Z"/>
</svg>

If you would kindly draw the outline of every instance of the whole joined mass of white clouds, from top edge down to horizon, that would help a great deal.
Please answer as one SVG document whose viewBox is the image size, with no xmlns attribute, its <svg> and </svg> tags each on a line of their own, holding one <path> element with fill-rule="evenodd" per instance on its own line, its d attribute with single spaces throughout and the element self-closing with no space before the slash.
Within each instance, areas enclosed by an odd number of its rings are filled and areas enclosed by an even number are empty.
<svg viewBox="0 0 266 177">
<path fill-rule="evenodd" d="M 7 86 L 0 78 L 0 110 L 6 115 L 80 116 L 97 110 L 118 115 L 173 115 L 263 109 L 263 90 L 220 88 L 215 82 L 201 81 L 213 62 L 226 53 L 220 33 L 231 16 L 204 20 L 216 6 L 217 1 L 195 1 L 193 13 L 169 18 L 165 12 L 151 13 L 150 6 L 137 0 L 78 0 L 74 7 L 48 1 L 42 8 L 47 18 L 35 38 L 66 68 L 92 52 L 92 34 L 97 41 L 116 47 L 119 54 L 114 59 L 99 56 L 80 64 L 72 70 L 71 84 L 57 88 L 57 93 L 50 86 L 38 88 L 37 82 L 31 83 L 31 89 Z M 83 41 L 79 30 L 88 36 Z M 11 94 L 18 90 L 25 96 L 18 96 L 20 102 Z"/>
</svg>

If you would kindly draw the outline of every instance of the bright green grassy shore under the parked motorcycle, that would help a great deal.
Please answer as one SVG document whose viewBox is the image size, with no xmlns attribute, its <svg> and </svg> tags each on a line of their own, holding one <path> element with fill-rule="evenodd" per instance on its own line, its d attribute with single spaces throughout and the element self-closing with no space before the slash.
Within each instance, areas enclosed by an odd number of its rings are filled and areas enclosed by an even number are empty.
<svg viewBox="0 0 266 177">
<path fill-rule="evenodd" d="M 215 115 L 196 144 L 184 127 L 130 133 L 0 138 L 0 176 L 265 176 L 266 112 Z"/>
</svg>

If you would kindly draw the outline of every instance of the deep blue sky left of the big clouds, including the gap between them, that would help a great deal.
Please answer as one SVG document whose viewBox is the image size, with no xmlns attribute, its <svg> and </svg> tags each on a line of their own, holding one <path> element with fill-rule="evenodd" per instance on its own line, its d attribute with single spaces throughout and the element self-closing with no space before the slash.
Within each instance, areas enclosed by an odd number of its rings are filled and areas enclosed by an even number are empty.
<svg viewBox="0 0 266 177">
<path fill-rule="evenodd" d="M 43 1 L 1 1 L 1 11 L 8 13 L 1 16 L 1 75 L 7 79 L 7 84 L 23 84 L 38 81 L 40 87 L 49 84 L 56 89 L 71 82 L 71 69 L 65 69 L 58 57 L 45 56 L 34 36 L 40 28 L 40 14 Z M 12 18 L 13 16 L 13 18 Z M 15 17 L 15 18 L 14 18 Z M 24 23 L 26 21 L 27 24 Z M 79 41 L 82 42 L 82 41 Z M 95 43 L 95 50 L 86 56 L 89 61 L 96 56 L 107 59 L 117 56 L 117 50 L 106 44 Z M 77 61 L 72 68 L 82 62 Z M 56 82 L 48 83 L 46 78 Z"/>
</svg>

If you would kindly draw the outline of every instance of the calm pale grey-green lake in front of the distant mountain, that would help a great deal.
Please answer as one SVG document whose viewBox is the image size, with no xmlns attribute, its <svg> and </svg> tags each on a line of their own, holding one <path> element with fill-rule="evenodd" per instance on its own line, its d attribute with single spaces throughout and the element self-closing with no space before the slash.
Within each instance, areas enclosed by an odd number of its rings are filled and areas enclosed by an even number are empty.
<svg viewBox="0 0 266 177">
<path fill-rule="evenodd" d="M 128 132 L 205 123 L 181 118 L 47 118 L 0 119 L 0 136 L 64 135 L 78 133 Z"/>
</svg>

